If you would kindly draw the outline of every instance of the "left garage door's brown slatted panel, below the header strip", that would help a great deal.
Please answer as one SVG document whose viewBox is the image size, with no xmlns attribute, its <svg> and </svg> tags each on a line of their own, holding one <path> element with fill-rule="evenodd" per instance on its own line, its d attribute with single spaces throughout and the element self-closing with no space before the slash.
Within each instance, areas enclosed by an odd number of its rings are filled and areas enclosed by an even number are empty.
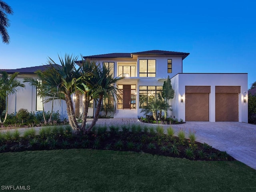
<svg viewBox="0 0 256 192">
<path fill-rule="evenodd" d="M 209 121 L 209 93 L 186 93 L 185 120 Z"/>
</svg>

